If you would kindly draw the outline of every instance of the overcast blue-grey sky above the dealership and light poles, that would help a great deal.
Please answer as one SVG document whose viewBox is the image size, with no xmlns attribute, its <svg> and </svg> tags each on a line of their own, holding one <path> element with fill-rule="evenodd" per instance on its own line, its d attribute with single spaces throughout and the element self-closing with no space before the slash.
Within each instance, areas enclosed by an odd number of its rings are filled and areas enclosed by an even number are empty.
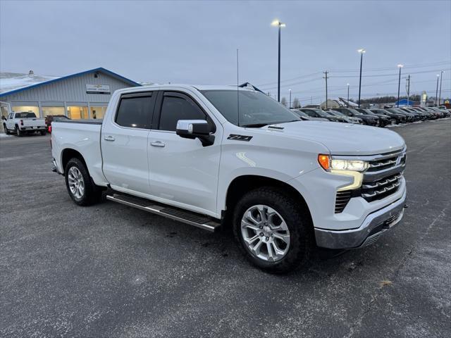
<svg viewBox="0 0 451 338">
<path fill-rule="evenodd" d="M 136 81 L 233 84 L 277 92 L 307 104 L 329 96 L 396 94 L 397 64 L 412 74 L 411 93 L 451 95 L 451 1 L 4 1 L 0 70 L 68 75 L 104 67 Z M 405 93 L 405 80 L 401 82 Z"/>
</svg>

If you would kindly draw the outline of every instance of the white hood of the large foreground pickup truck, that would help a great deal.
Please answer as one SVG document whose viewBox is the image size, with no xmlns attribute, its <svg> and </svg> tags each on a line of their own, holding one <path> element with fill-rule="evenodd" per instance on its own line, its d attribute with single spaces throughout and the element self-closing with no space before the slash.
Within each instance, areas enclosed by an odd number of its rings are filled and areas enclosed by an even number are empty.
<svg viewBox="0 0 451 338">
<path fill-rule="evenodd" d="M 332 155 L 376 155 L 404 148 L 405 142 L 396 132 L 379 127 L 323 121 L 280 123 L 283 129 L 271 125 L 261 128 L 295 139 L 319 142 Z"/>
</svg>

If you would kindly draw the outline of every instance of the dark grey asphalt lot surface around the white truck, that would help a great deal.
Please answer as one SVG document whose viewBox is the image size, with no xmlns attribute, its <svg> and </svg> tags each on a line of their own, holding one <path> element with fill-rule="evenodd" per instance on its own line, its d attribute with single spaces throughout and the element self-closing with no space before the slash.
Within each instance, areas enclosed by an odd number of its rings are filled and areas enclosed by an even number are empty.
<svg viewBox="0 0 451 338">
<path fill-rule="evenodd" d="M 451 119 L 407 142 L 404 220 L 366 249 L 268 275 L 227 233 L 51 173 L 49 137 L 0 139 L 0 337 L 451 337 Z"/>
</svg>

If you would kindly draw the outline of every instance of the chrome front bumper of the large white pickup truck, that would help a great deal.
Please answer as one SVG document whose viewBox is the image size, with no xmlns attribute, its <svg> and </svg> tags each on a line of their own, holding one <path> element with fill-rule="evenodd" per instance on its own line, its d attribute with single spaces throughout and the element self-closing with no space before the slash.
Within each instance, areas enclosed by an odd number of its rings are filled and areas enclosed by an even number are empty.
<svg viewBox="0 0 451 338">
<path fill-rule="evenodd" d="M 381 234 L 400 223 L 407 193 L 397 201 L 370 213 L 357 229 L 326 230 L 315 228 L 316 244 L 328 249 L 356 249 L 375 242 Z"/>
</svg>

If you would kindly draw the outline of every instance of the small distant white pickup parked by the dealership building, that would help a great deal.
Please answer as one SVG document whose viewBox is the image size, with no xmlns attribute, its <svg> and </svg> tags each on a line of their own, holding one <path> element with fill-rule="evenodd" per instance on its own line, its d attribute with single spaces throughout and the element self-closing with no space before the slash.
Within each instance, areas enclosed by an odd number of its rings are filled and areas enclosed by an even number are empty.
<svg viewBox="0 0 451 338">
<path fill-rule="evenodd" d="M 30 111 L 9 113 L 3 121 L 6 134 L 15 133 L 17 136 L 39 132 L 47 134 L 47 125 L 44 118 L 37 118 L 35 113 Z"/>
</svg>

